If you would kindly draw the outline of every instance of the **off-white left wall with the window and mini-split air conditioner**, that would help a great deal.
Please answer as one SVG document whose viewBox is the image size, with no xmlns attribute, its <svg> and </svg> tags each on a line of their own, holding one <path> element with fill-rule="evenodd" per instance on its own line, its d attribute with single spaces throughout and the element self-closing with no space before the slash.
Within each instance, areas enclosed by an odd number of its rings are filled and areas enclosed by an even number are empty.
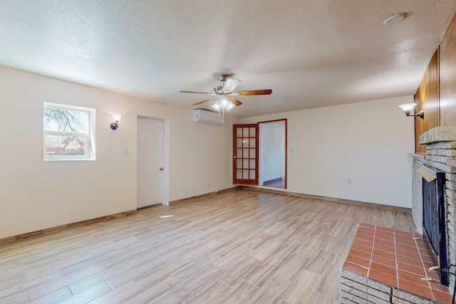
<svg viewBox="0 0 456 304">
<path fill-rule="evenodd" d="M 170 122 L 170 201 L 232 187 L 237 119 L 195 124 L 191 109 L 4 67 L 0 92 L 0 239 L 135 209 L 138 115 Z M 95 161 L 43 162 L 43 102 L 96 109 Z"/>
</svg>

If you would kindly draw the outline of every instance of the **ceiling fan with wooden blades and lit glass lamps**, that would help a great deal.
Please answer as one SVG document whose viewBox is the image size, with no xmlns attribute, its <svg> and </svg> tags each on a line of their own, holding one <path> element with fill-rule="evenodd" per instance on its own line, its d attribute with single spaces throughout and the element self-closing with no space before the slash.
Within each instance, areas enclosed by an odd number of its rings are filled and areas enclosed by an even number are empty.
<svg viewBox="0 0 456 304">
<path fill-rule="evenodd" d="M 194 93 L 194 94 L 204 94 L 212 96 L 209 99 L 202 100 L 199 103 L 193 105 L 200 105 L 206 103 L 207 101 L 215 100 L 215 103 L 212 105 L 212 108 L 220 111 L 231 110 L 237 105 L 242 105 L 242 103 L 236 98 L 237 96 L 247 96 L 247 95 L 269 95 L 272 93 L 272 90 L 247 90 L 247 91 L 236 91 L 234 89 L 241 83 L 241 80 L 234 78 L 227 78 L 228 74 L 220 74 L 219 80 L 222 82 L 222 85 L 217 85 L 214 87 L 214 93 L 205 93 L 205 92 L 194 92 L 194 91 L 180 91 L 180 93 Z M 236 97 L 234 97 L 236 96 Z"/>
</svg>

